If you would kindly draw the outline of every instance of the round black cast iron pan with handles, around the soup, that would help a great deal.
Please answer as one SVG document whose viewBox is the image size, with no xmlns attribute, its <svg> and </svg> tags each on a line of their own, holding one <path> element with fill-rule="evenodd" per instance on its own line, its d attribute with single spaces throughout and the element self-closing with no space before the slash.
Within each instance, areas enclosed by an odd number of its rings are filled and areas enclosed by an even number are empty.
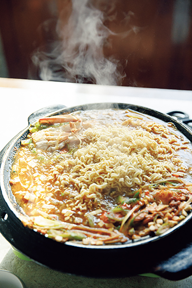
<svg viewBox="0 0 192 288">
<path fill-rule="evenodd" d="M 172 122 L 192 141 L 191 129 L 182 122 L 169 115 L 130 104 L 97 103 L 72 108 L 52 106 L 33 113 L 28 122 L 32 124 L 45 115 L 108 108 L 132 109 L 164 122 Z M 41 265 L 77 275 L 106 278 L 152 272 L 170 280 L 192 275 L 192 213 L 161 236 L 130 240 L 120 245 L 63 244 L 24 227 L 18 218 L 22 210 L 15 202 L 9 186 L 9 171 L 16 147 L 28 134 L 28 128 L 14 137 L 0 153 L 0 231 L 12 246 Z"/>
</svg>

